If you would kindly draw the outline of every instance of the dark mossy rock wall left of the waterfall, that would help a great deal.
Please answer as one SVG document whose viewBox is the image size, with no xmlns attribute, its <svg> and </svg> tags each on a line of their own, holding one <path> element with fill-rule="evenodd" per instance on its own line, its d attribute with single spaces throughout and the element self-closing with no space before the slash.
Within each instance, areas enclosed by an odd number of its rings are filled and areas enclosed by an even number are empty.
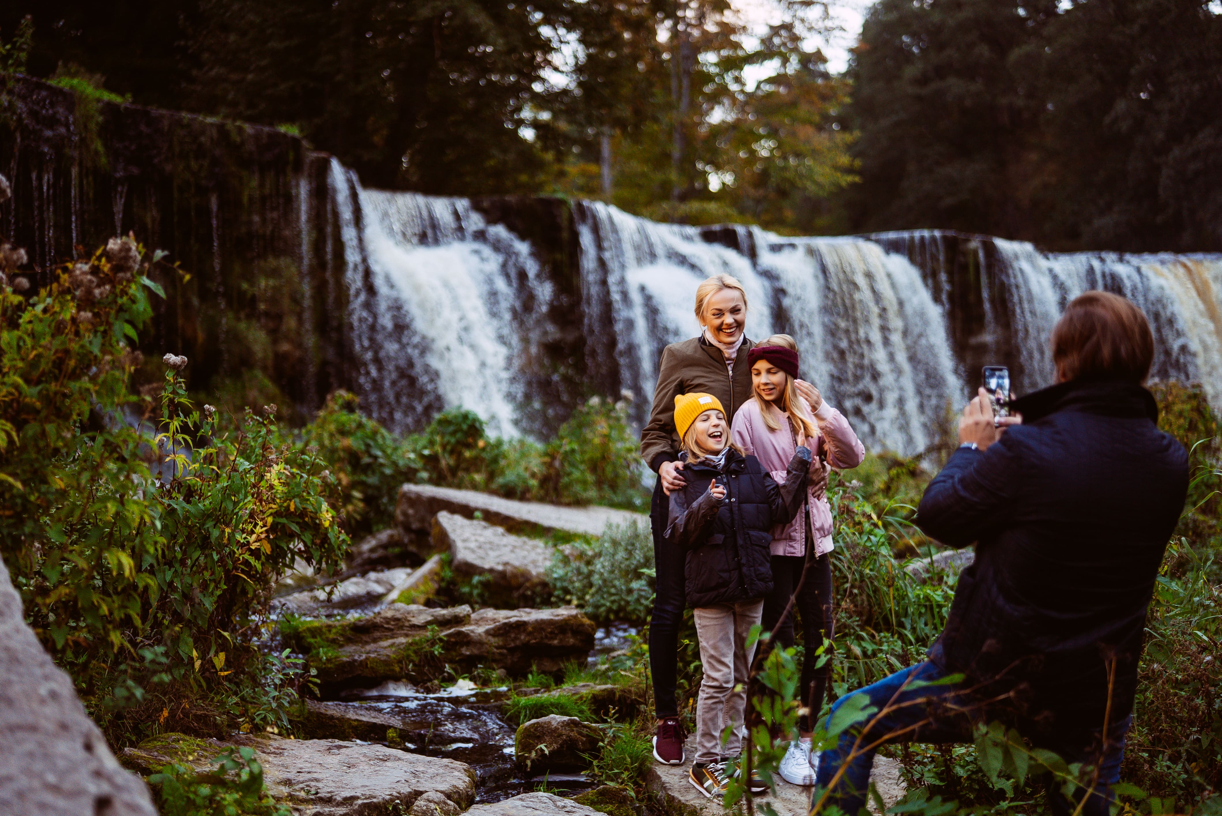
<svg viewBox="0 0 1222 816">
<path fill-rule="evenodd" d="M 0 232 L 34 280 L 134 233 L 167 254 L 166 299 L 142 337 L 186 354 L 194 391 L 310 412 L 346 377 L 343 249 L 329 156 L 274 128 L 115 104 L 44 82 L 6 83 Z M 171 264 L 176 264 L 176 271 Z"/>
</svg>

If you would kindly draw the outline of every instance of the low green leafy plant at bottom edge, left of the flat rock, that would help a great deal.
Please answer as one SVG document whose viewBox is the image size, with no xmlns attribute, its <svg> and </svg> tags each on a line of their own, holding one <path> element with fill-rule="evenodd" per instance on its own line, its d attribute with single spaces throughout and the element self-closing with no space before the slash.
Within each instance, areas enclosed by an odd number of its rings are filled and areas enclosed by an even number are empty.
<svg viewBox="0 0 1222 816">
<path fill-rule="evenodd" d="M 216 768 L 196 773 L 182 765 L 167 765 L 149 777 L 158 792 L 163 816 L 288 816 L 263 789 L 263 766 L 254 750 L 230 749 L 213 762 Z"/>
</svg>

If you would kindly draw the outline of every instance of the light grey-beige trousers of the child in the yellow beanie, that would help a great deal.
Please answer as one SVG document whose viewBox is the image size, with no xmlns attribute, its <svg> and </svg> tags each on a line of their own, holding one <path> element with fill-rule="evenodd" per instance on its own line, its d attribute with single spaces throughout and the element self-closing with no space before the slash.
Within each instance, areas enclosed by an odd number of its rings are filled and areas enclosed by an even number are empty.
<svg viewBox="0 0 1222 816">
<path fill-rule="evenodd" d="M 695 610 L 695 634 L 704 667 L 700 698 L 695 704 L 695 761 L 701 765 L 738 756 L 742 750 L 747 674 L 755 654 L 754 647 L 748 654 L 744 644 L 763 613 L 763 600 Z M 721 735 L 727 727 L 730 735 L 722 744 Z"/>
</svg>

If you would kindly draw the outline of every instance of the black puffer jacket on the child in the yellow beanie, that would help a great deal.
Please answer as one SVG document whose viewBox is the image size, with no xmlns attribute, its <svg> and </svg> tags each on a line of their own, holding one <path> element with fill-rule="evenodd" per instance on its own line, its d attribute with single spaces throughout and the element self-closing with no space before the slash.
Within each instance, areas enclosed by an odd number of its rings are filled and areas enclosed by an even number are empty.
<svg viewBox="0 0 1222 816">
<path fill-rule="evenodd" d="M 731 448 L 721 469 L 688 464 L 687 486 L 671 494 L 666 540 L 687 550 L 687 602 L 693 607 L 749 601 L 772 590 L 769 530 L 793 520 L 805 501 L 810 450 L 789 461 L 777 485 L 754 456 Z M 726 487 L 717 500 L 709 486 Z"/>
</svg>

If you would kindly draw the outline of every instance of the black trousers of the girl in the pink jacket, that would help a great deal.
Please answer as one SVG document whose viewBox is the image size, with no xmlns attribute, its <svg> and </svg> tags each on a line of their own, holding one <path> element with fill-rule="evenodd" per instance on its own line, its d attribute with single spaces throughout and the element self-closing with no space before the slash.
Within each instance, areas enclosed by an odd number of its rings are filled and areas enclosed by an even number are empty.
<svg viewBox="0 0 1222 816">
<path fill-rule="evenodd" d="M 802 580 L 802 569 L 807 563 L 805 556 L 772 556 L 772 591 L 764 597 L 764 619 L 761 624 L 764 632 L 771 632 L 781 621 L 789 597 L 793 596 L 798 581 Z M 786 649 L 793 645 L 793 612 L 802 616 L 803 634 L 803 658 L 802 658 L 802 685 L 798 691 L 803 706 L 810 706 L 810 716 L 803 716 L 798 727 L 802 730 L 810 730 L 810 723 L 819 717 L 819 711 L 824 706 L 824 696 L 827 694 L 827 676 L 831 672 L 831 651 L 827 651 L 827 662 L 819 668 L 819 656 L 815 654 L 824 644 L 831 640 L 835 621 L 832 618 L 832 562 L 827 553 L 818 558 L 810 557 L 810 567 L 807 569 L 807 580 L 802 583 L 802 589 L 793 601 L 793 608 L 781 622 L 776 632 L 776 641 Z"/>
</svg>

